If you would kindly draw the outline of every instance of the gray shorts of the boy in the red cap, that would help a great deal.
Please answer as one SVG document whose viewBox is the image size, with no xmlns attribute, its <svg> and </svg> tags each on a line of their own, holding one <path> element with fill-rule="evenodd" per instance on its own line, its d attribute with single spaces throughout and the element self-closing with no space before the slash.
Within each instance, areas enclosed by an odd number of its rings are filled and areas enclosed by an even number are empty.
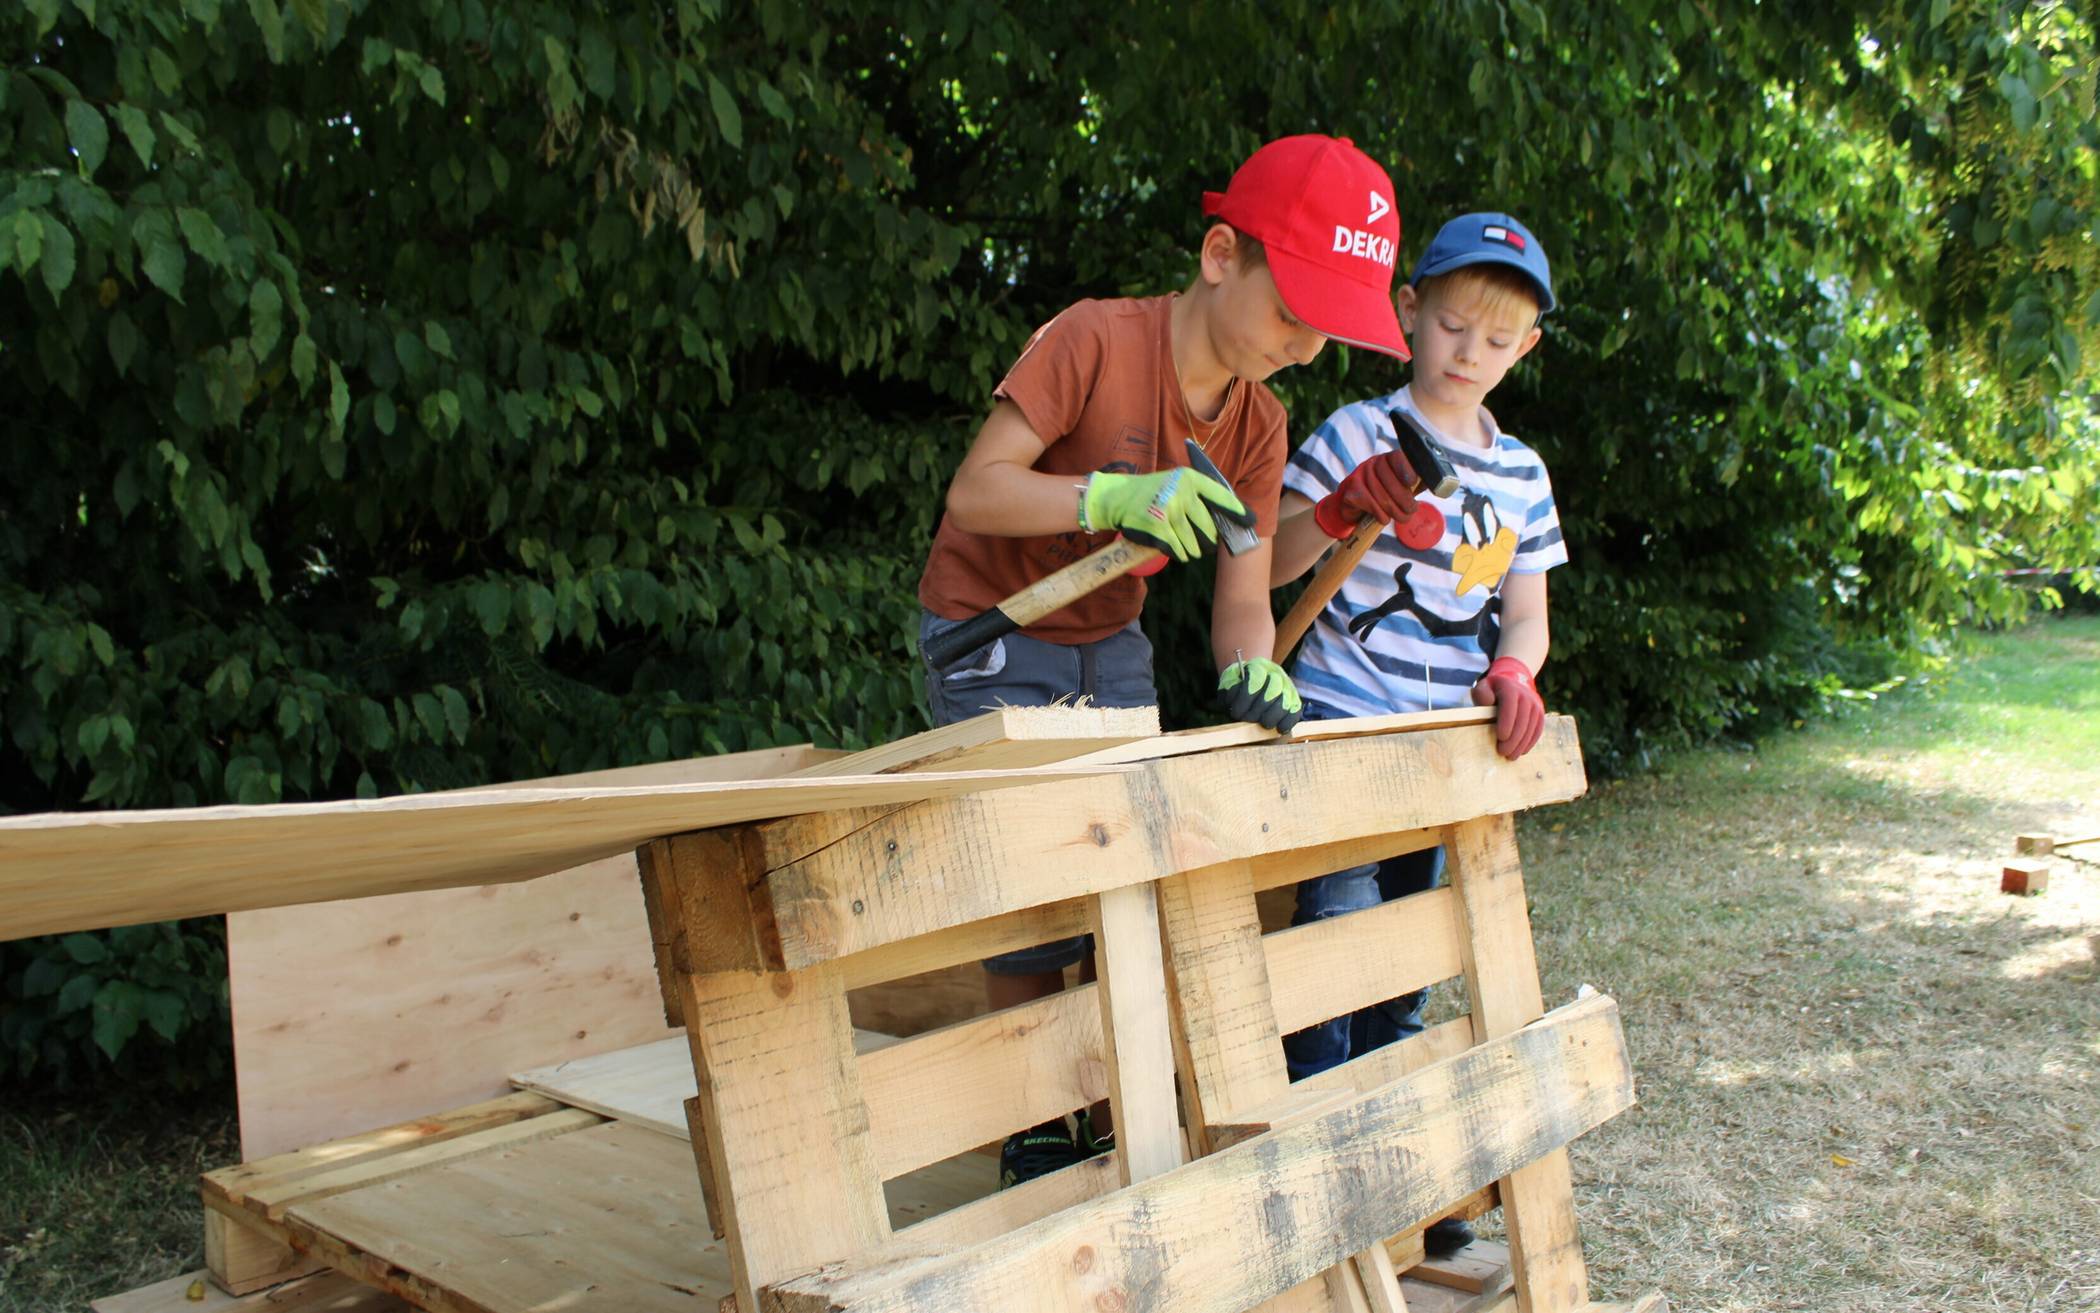
<svg viewBox="0 0 2100 1313">
<path fill-rule="evenodd" d="M 958 624 L 962 622 L 920 611 L 920 651 L 934 634 Z M 926 704 L 934 725 L 968 721 L 1000 706 L 1050 706 L 1060 697 L 1082 695 L 1092 697 L 1094 706 L 1157 706 L 1153 645 L 1136 620 L 1094 643 L 1044 643 L 1006 634 L 964 655 L 945 674 L 926 664 Z M 985 971 L 1042 975 L 1063 971 L 1090 952 L 1092 935 L 1079 935 L 985 958 Z"/>
</svg>

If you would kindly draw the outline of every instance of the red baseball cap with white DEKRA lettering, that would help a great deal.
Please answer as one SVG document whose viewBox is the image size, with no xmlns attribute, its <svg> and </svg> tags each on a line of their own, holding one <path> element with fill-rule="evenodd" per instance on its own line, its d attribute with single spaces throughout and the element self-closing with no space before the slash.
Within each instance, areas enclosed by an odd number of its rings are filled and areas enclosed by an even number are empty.
<svg viewBox="0 0 2100 1313">
<path fill-rule="evenodd" d="M 1256 237 L 1292 315 L 1350 347 L 1411 359 L 1392 311 L 1401 210 L 1392 179 L 1346 137 L 1283 137 L 1247 155 L 1203 214 Z"/>
</svg>

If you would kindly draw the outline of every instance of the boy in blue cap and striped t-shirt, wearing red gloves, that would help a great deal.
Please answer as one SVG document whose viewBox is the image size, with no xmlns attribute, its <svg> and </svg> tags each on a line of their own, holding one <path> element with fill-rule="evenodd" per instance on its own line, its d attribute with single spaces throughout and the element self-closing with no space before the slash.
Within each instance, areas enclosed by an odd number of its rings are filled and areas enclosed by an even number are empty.
<svg viewBox="0 0 2100 1313">
<path fill-rule="evenodd" d="M 1537 237 L 1508 214 L 1447 223 L 1399 290 L 1413 378 L 1327 416 L 1283 473 L 1270 584 L 1304 574 L 1357 521 L 1388 523 L 1312 622 L 1292 666 L 1306 718 L 1495 706 L 1495 748 L 1516 758 L 1539 739 L 1546 708 L 1546 571 L 1567 561 L 1546 464 L 1504 433 L 1487 395 L 1539 340 L 1554 309 Z M 1411 492 L 1396 416 L 1413 420 L 1457 471 L 1449 498 Z M 1422 893 L 1443 849 L 1319 876 L 1298 887 L 1292 924 Z M 1428 989 L 1285 1038 L 1292 1080 L 1422 1031 Z M 1472 1239 L 1457 1218 L 1428 1229 L 1432 1252 Z"/>
</svg>

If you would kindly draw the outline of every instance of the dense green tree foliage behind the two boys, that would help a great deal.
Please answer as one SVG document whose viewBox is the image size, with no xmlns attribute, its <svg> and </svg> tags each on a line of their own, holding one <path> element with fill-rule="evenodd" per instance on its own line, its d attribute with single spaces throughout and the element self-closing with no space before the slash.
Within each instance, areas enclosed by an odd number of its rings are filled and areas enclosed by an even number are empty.
<svg viewBox="0 0 2100 1313">
<path fill-rule="evenodd" d="M 1556 258 L 1497 414 L 1556 475 L 1544 685 L 1600 769 L 2100 559 L 2071 6 L 27 0 L 0 34 L 17 811 L 916 729 L 914 584 L 991 384 L 1069 300 L 1182 284 L 1201 189 L 1296 130 L 1388 164 L 1403 260 L 1462 208 Z M 1399 378 L 1336 349 L 1279 393 L 1304 435 Z M 1149 620 L 1180 721 L 1203 574 Z M 0 954 L 15 998 L 90 966 Z M 17 1063 L 71 1017 L 13 1006 Z"/>
</svg>

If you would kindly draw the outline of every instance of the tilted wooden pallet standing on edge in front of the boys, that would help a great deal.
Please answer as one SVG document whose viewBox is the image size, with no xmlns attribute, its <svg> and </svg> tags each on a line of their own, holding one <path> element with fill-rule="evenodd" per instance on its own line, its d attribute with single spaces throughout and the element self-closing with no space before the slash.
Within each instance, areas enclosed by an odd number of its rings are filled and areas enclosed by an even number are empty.
<svg viewBox="0 0 2100 1313">
<path fill-rule="evenodd" d="M 1611 1000 L 1544 1013 L 1508 819 L 1579 790 L 1552 718 L 1522 763 L 1474 727 L 1266 744 L 645 847 L 735 1307 L 1390 1311 L 1386 1242 L 1495 1185 L 1510 1298 L 1592 1309 L 1562 1147 L 1632 1078 Z M 1449 889 L 1262 935 L 1260 889 L 1430 842 Z M 848 989 L 1079 931 L 1096 985 L 853 1053 Z M 1283 1034 L 1451 975 L 1466 1021 L 1287 1084 Z M 888 1225 L 884 1181 L 1102 1095 L 1077 1197 Z"/>
</svg>

